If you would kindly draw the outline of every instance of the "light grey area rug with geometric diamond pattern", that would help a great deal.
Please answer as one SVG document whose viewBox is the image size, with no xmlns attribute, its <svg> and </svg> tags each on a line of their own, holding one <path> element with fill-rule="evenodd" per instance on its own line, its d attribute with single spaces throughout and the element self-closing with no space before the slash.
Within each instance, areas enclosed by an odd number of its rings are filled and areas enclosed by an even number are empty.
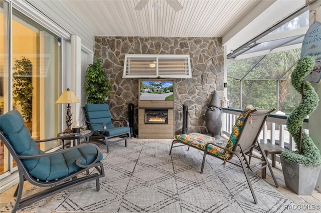
<svg viewBox="0 0 321 213">
<path fill-rule="evenodd" d="M 24 212 L 291 212 L 294 204 L 273 185 L 248 171 L 258 204 L 254 204 L 242 168 L 187 146 L 173 148 L 162 141 L 128 141 L 103 152 L 105 177 L 100 191 L 95 181 L 77 185 L 40 200 Z M 34 193 L 35 186 L 26 191 Z M 11 211 L 9 204 L 3 211 Z M 295 212 L 301 212 L 296 210 Z"/>
</svg>

